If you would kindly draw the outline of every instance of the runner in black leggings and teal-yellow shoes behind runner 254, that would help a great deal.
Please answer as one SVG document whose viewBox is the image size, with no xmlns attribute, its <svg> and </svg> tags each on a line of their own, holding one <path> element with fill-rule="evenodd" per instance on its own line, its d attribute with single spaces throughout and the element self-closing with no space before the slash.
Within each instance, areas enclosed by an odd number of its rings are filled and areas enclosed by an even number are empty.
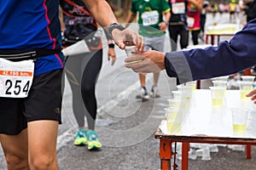
<svg viewBox="0 0 256 170">
<path fill-rule="evenodd" d="M 102 68 L 102 31 L 97 31 L 97 23 L 81 0 L 61 0 L 63 46 L 70 46 L 86 39 L 90 53 L 69 56 L 65 65 L 65 73 L 73 94 L 73 113 L 79 125 L 79 131 L 73 142 L 75 145 L 87 144 L 88 150 L 102 148 L 95 131 L 97 103 L 96 81 Z M 108 33 L 106 34 L 108 37 Z M 108 37 L 109 39 L 109 37 Z M 112 65 L 116 59 L 114 42 L 109 39 L 108 60 Z M 84 107 L 85 106 L 85 107 Z M 85 127 L 84 119 L 88 124 Z"/>
</svg>

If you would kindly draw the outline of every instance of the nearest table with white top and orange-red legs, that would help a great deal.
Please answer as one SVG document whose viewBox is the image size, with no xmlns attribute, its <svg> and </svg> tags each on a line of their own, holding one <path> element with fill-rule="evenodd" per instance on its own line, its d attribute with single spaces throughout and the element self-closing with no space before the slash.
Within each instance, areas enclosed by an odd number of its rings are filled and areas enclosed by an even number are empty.
<svg viewBox="0 0 256 170">
<path fill-rule="evenodd" d="M 171 159 L 177 153 L 172 144 L 182 143 L 182 169 L 188 169 L 189 143 L 205 144 L 245 144 L 247 158 L 251 157 L 251 144 L 256 145 L 256 111 L 251 100 L 241 103 L 239 90 L 226 90 L 224 107 L 212 106 L 210 89 L 196 89 L 193 92 L 189 112 L 182 122 L 178 133 L 167 133 L 166 120 L 162 120 L 155 139 L 160 139 L 160 167 L 170 170 Z M 242 105 L 241 105 L 242 104 Z M 247 107 L 247 132 L 242 135 L 233 133 L 231 108 Z M 173 165 L 177 169 L 177 165 Z"/>
</svg>

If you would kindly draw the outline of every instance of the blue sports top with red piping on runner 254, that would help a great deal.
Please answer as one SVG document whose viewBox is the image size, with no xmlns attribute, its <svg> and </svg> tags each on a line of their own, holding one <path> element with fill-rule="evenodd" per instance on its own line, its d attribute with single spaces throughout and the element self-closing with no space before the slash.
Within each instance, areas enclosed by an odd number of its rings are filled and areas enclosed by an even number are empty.
<svg viewBox="0 0 256 170">
<path fill-rule="evenodd" d="M 58 0 L 0 1 L 0 49 L 61 50 Z M 35 75 L 63 68 L 63 54 L 40 57 Z"/>
</svg>

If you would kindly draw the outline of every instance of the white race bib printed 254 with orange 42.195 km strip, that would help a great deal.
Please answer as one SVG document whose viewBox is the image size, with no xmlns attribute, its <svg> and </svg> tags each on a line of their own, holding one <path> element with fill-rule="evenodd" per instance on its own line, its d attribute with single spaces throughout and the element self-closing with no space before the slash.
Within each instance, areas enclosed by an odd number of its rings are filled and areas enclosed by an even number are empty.
<svg viewBox="0 0 256 170">
<path fill-rule="evenodd" d="M 32 59 L 12 62 L 0 58 L 0 97 L 26 98 L 32 85 Z"/>
</svg>

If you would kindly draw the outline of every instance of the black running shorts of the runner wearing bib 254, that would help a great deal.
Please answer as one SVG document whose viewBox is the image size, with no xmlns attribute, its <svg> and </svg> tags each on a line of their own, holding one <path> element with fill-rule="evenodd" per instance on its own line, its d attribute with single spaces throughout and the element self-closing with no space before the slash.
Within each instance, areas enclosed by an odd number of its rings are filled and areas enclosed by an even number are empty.
<svg viewBox="0 0 256 170">
<path fill-rule="evenodd" d="M 27 98 L 0 98 L 0 133 L 15 135 L 27 122 L 54 120 L 61 123 L 62 69 L 33 78 Z"/>
</svg>

